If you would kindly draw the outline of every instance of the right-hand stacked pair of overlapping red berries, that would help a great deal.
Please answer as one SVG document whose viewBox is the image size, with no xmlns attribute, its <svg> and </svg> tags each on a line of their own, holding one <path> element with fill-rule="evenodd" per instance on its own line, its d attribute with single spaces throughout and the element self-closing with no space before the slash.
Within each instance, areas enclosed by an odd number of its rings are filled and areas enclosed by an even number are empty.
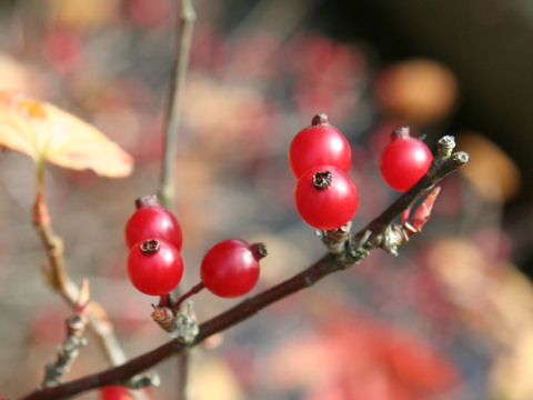
<svg viewBox="0 0 533 400">
<path fill-rule="evenodd" d="M 316 114 L 292 140 L 289 166 L 298 179 L 294 202 L 310 226 L 338 229 L 358 211 L 358 188 L 348 176 L 351 162 L 350 143 L 324 113 Z"/>
</svg>

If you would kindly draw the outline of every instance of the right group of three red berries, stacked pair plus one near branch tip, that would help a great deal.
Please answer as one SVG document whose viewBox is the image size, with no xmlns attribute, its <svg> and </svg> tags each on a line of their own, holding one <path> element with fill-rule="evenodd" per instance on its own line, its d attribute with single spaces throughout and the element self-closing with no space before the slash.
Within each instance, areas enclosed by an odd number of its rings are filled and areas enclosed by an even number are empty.
<svg viewBox="0 0 533 400">
<path fill-rule="evenodd" d="M 302 219 L 322 230 L 339 229 L 355 214 L 359 193 L 348 176 L 352 161 L 344 134 L 316 114 L 310 127 L 296 133 L 289 148 L 289 166 L 298 179 L 294 202 Z M 385 182 L 408 191 L 429 170 L 433 156 L 409 128 L 392 133 L 381 154 L 380 169 Z"/>
</svg>

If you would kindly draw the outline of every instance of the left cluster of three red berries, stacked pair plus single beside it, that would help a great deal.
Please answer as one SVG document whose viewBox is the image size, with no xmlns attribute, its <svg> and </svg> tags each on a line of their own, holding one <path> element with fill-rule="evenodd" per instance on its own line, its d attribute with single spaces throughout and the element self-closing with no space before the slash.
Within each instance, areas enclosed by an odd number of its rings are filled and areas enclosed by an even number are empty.
<svg viewBox="0 0 533 400">
<path fill-rule="evenodd" d="M 183 276 L 181 228 L 155 196 L 138 199 L 135 207 L 125 224 L 128 276 L 139 291 L 164 296 L 175 289 Z M 201 264 L 203 287 L 224 298 L 245 294 L 259 280 L 259 260 L 264 256 L 262 243 L 249 244 L 239 239 L 217 243 Z"/>
</svg>

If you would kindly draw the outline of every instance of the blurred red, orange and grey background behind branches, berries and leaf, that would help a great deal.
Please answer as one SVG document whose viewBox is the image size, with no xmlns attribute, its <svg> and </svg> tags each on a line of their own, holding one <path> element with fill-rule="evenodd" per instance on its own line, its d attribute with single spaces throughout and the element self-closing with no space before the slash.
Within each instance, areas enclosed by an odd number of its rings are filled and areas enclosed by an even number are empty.
<svg viewBox="0 0 533 400">
<path fill-rule="evenodd" d="M 400 257 L 373 251 L 194 349 L 191 399 L 532 399 L 532 4 L 194 7 L 175 172 L 181 290 L 230 237 L 269 248 L 252 293 L 322 256 L 294 210 L 286 163 L 318 112 L 352 144 L 355 229 L 399 196 L 379 173 L 393 129 L 411 126 L 432 149 L 454 134 L 472 161 L 443 182 L 432 220 Z M 131 357 L 169 339 L 150 318 L 157 299 L 127 280 L 123 227 L 133 200 L 159 187 L 175 16 L 171 0 L 0 2 L 0 88 L 64 108 L 135 158 L 125 179 L 53 166 L 46 177 L 69 273 L 89 278 Z M 0 391 L 13 398 L 40 383 L 70 314 L 40 276 L 32 172 L 28 157 L 0 153 Z M 203 321 L 237 301 L 202 292 L 194 309 Z M 91 343 L 68 378 L 105 367 Z M 153 399 L 175 398 L 175 368 L 158 368 Z"/>
</svg>

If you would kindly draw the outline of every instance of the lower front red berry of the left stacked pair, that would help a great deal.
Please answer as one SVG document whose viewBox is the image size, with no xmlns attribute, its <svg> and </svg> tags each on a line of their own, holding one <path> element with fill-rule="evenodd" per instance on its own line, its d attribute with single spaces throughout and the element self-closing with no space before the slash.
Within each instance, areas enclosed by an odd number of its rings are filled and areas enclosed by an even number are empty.
<svg viewBox="0 0 533 400">
<path fill-rule="evenodd" d="M 183 260 L 180 252 L 163 239 L 150 239 L 134 244 L 128 257 L 128 277 L 141 292 L 163 296 L 180 283 Z"/>
</svg>

